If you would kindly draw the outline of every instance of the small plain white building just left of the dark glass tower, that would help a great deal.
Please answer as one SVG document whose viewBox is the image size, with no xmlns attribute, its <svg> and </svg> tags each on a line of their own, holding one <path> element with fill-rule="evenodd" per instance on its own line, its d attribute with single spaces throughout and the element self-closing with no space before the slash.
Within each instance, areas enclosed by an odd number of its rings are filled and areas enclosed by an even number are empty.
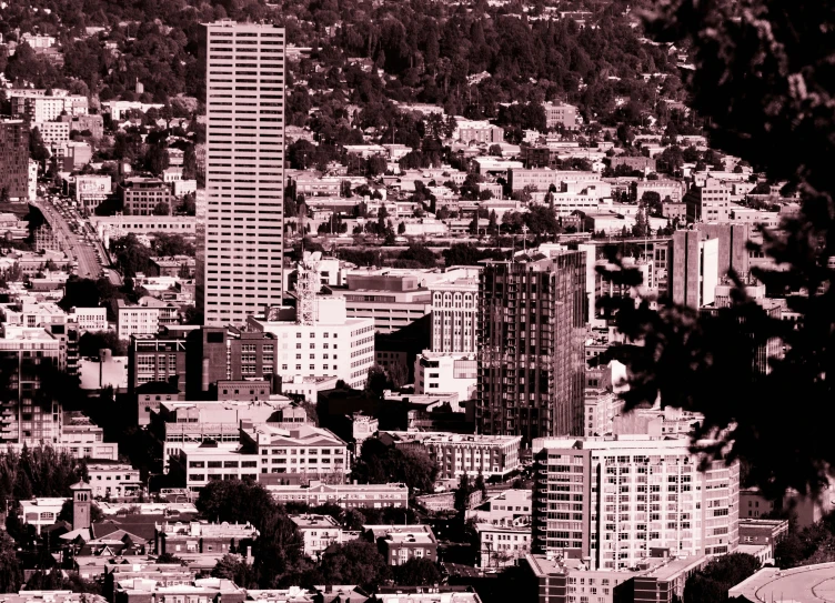
<svg viewBox="0 0 835 603">
<path fill-rule="evenodd" d="M 455 393 L 459 400 L 475 398 L 479 355 L 433 353 L 424 350 L 414 361 L 414 393 Z"/>
</svg>

